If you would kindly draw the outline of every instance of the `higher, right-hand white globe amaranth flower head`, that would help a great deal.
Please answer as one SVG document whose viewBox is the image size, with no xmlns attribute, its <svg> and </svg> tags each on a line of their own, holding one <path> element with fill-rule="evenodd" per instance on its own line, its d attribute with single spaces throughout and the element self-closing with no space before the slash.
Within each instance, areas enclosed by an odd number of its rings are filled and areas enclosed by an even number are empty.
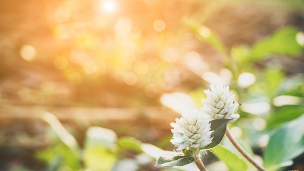
<svg viewBox="0 0 304 171">
<path fill-rule="evenodd" d="M 229 92 L 229 86 L 211 85 L 210 89 L 204 90 L 207 98 L 202 99 L 203 111 L 213 119 L 233 119 L 239 118 L 236 114 L 238 103 L 235 103 L 235 94 Z"/>
</svg>

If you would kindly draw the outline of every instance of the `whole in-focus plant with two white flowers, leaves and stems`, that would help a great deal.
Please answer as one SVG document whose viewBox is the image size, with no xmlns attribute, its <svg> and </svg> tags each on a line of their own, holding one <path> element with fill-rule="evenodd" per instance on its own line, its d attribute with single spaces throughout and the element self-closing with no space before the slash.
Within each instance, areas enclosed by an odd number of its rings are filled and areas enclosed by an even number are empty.
<svg viewBox="0 0 304 171">
<path fill-rule="evenodd" d="M 206 99 L 202 99 L 203 108 L 192 109 L 171 123 L 173 138 L 170 140 L 178 152 L 160 156 L 156 161 L 158 167 L 184 166 L 194 162 L 200 171 L 205 171 L 201 155 L 205 150 L 220 144 L 226 134 L 236 149 L 245 156 L 260 171 L 266 171 L 257 164 L 231 136 L 228 123 L 239 118 L 236 113 L 238 103 L 235 94 L 229 91 L 229 86 L 211 85 L 204 90 Z"/>
</svg>

